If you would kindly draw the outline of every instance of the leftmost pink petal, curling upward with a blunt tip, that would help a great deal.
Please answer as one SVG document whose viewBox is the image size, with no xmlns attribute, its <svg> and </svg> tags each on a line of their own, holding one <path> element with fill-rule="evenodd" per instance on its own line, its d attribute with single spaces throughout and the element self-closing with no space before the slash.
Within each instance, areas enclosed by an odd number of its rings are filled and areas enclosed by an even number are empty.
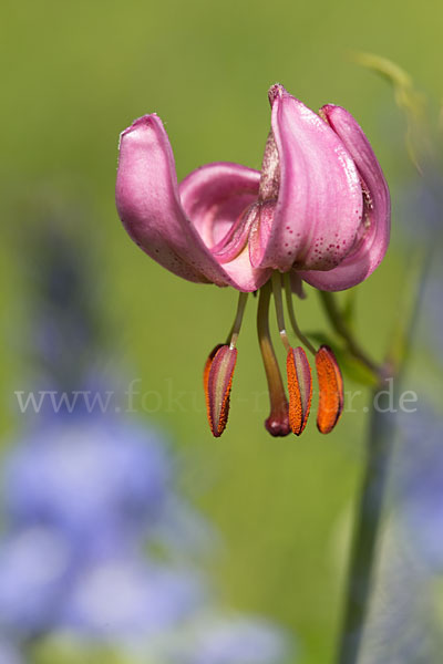
<svg viewBox="0 0 443 664">
<path fill-rule="evenodd" d="M 238 270 L 237 282 L 217 262 L 186 216 L 171 144 L 155 114 L 136 120 L 121 136 L 116 205 L 132 239 L 175 274 L 238 290 L 257 288 L 250 269 L 245 280 Z"/>
</svg>

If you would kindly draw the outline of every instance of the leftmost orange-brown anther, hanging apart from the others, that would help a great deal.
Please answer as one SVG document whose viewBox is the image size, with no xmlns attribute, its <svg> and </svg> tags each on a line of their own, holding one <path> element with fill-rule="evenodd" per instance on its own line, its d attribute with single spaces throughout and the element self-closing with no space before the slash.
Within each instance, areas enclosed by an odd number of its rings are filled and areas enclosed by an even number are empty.
<svg viewBox="0 0 443 664">
<path fill-rule="evenodd" d="M 206 395 L 207 416 L 215 438 L 222 436 L 229 414 L 230 388 L 237 362 L 237 349 L 217 345 L 206 361 L 203 383 Z"/>
</svg>

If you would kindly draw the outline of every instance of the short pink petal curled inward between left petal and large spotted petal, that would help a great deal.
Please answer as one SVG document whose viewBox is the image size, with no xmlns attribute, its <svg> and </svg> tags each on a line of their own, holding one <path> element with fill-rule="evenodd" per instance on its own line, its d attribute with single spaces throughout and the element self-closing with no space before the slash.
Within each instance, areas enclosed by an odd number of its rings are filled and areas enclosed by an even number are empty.
<svg viewBox="0 0 443 664">
<path fill-rule="evenodd" d="M 219 162 L 197 168 L 179 185 L 187 217 L 213 259 L 241 291 L 257 290 L 271 273 L 250 264 L 247 247 L 259 180 L 257 170 Z"/>
</svg>

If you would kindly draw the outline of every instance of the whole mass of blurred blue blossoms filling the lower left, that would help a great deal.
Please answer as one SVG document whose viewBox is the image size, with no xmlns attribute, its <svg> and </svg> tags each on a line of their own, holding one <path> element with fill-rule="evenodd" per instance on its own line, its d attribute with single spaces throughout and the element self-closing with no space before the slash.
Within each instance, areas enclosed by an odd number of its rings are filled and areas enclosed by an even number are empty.
<svg viewBox="0 0 443 664">
<path fill-rule="evenodd" d="M 205 618 L 216 610 L 207 583 L 183 563 L 187 540 L 204 547 L 207 526 L 169 475 L 162 439 L 123 421 L 60 417 L 12 448 L 0 629 L 19 640 L 61 630 L 152 649 L 163 639 L 162 664 L 280 664 L 287 642 L 268 623 Z M 166 561 L 143 553 L 150 536 Z M 190 636 L 173 647 L 181 632 Z"/>
</svg>

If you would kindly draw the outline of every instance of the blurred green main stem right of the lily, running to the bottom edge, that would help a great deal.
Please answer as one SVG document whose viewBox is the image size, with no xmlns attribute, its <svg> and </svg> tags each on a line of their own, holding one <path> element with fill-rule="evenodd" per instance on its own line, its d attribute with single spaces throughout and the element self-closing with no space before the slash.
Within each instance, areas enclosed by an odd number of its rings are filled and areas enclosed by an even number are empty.
<svg viewBox="0 0 443 664">
<path fill-rule="evenodd" d="M 418 251 L 409 262 L 409 279 L 405 279 L 404 282 L 404 297 L 400 301 L 399 314 L 395 318 L 391 347 L 387 361 L 379 372 L 379 375 L 390 375 L 393 380 L 394 404 L 399 401 L 401 382 L 409 357 L 408 351 L 420 315 L 432 253 L 432 247 L 427 251 Z M 336 308 L 332 312 L 336 315 L 339 310 Z M 336 320 L 341 326 L 340 318 Z M 343 325 L 344 328 L 341 329 L 346 330 L 344 322 Z M 357 664 L 361 651 L 377 561 L 383 500 L 395 437 L 395 414 L 390 408 L 389 400 L 390 395 L 384 388 L 384 380 L 380 378 L 378 387 L 372 392 L 367 461 L 357 507 L 337 664 Z"/>
</svg>

